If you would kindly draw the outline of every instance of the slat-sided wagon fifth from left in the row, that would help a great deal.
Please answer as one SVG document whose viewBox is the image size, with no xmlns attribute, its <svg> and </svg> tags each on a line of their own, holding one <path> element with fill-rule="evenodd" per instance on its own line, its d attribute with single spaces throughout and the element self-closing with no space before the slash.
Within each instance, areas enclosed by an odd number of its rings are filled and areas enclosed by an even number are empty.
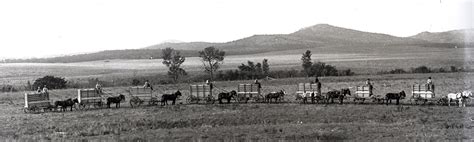
<svg viewBox="0 0 474 142">
<path fill-rule="evenodd" d="M 264 98 L 261 94 L 258 84 L 239 84 L 237 88 L 237 102 L 247 103 L 249 100 L 255 102 L 263 102 Z"/>
</svg>

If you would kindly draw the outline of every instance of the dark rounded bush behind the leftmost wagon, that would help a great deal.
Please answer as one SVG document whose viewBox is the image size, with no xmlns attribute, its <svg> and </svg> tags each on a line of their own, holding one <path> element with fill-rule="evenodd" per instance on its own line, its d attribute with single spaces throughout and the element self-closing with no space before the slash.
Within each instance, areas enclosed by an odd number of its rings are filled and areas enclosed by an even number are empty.
<svg viewBox="0 0 474 142">
<path fill-rule="evenodd" d="M 43 87 L 46 85 L 48 89 L 63 89 L 66 88 L 67 81 L 61 77 L 44 76 L 38 78 L 33 83 L 34 88 Z"/>
</svg>

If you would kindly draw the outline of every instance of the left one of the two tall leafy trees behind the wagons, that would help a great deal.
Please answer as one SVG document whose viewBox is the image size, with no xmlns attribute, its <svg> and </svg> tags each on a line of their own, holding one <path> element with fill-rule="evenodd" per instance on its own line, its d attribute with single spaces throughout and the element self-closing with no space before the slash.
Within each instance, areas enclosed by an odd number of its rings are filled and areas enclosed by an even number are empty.
<svg viewBox="0 0 474 142">
<path fill-rule="evenodd" d="M 181 65 L 184 63 L 186 58 L 181 56 L 179 51 L 174 50 L 173 48 L 165 48 L 161 52 L 163 58 L 163 64 L 168 67 L 168 75 L 173 78 L 176 82 L 180 76 L 187 75 L 186 71 L 181 68 Z"/>
</svg>

